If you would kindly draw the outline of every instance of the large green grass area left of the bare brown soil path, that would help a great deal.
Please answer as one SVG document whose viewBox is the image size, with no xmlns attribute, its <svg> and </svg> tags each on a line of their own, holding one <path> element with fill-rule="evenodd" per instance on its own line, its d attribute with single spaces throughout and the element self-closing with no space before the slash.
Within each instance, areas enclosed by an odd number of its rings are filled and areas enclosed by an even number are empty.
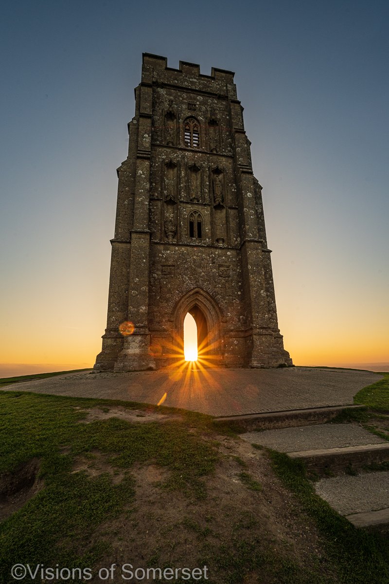
<svg viewBox="0 0 389 584">
<path fill-rule="evenodd" d="M 109 542 L 93 544 L 88 534 L 134 503 L 134 465 L 157 464 L 169 470 L 167 488 L 191 499 L 205 498 L 203 477 L 218 458 L 202 437 L 209 416 L 183 413 L 183 420 L 134 424 L 117 418 L 79 423 L 86 413 L 76 408 L 120 403 L 29 392 L 0 392 L 0 473 L 17 471 L 31 458 L 40 460 L 44 488 L 0 524 L 0 573 L 17 562 L 30 565 L 90 566 Z M 160 408 L 159 408 L 160 409 Z M 167 408 L 166 408 L 167 409 Z M 177 412 L 177 411 L 176 411 Z M 193 424 L 195 423 L 194 427 Z M 191 426 L 191 432 L 188 432 Z M 114 484 L 106 472 L 91 478 L 72 473 L 75 457 L 102 453 L 124 477 Z"/>
</svg>

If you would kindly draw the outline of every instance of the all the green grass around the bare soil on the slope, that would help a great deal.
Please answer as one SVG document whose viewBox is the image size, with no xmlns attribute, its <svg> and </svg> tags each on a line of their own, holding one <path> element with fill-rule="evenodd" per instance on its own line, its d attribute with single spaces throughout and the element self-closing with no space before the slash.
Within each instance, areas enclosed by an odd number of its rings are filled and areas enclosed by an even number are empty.
<svg viewBox="0 0 389 584">
<path fill-rule="evenodd" d="M 55 374 L 8 378 L 8 383 L 52 375 Z M 4 381 L 0 380 L 0 385 Z M 384 381 L 385 384 L 379 381 L 359 392 L 356 398 L 361 401 L 356 403 L 379 410 L 381 413 L 374 415 L 386 419 L 383 412 L 389 411 L 389 375 Z M 213 424 L 210 416 L 181 411 L 181 420 L 163 424 L 130 423 L 116 418 L 79 423 L 86 416 L 83 409 L 97 407 L 107 412 L 115 405 L 149 408 L 131 402 L 0 392 L 0 474 L 15 471 L 36 457 L 41 461 L 45 485 L 22 509 L 0 523 L 0 582 L 13 581 L 7 575 L 17 562 L 69 568 L 96 565 L 110 551 L 110 533 L 107 530 L 104 535 L 101 530 L 99 537 L 91 534 L 123 513 L 128 517 L 134 514 L 134 471 L 142 464 L 169 470 L 160 486 L 169 491 L 169 496 L 171 493 L 173 505 L 174 493 L 191 502 L 194 513 L 181 523 L 198 541 L 197 551 L 202 555 L 197 565 L 212 566 L 214 574 L 223 575 L 223 584 L 259 582 L 262 576 L 266 582 L 277 584 L 389 582 L 387 539 L 356 529 L 332 510 L 314 492 L 302 463 L 285 454 L 269 454 L 278 477 L 295 493 L 303 513 L 317 525 L 331 562 L 325 567 L 319 561 L 315 564 L 314 559 L 309 567 L 299 565 L 292 553 L 290 557 L 280 555 L 264 542 L 258 529 L 262 486 L 247 472 L 249 466 L 239 456 L 232 456 L 241 467 L 238 478 L 247 488 L 244 491 L 258 498 L 258 516 L 245 517 L 242 509 L 240 519 L 229 526 L 226 536 L 215 531 L 215 512 L 205 517 L 197 513 L 209 500 L 207 477 L 215 472 L 220 457 L 215 431 L 220 437 L 222 429 Z M 176 409 L 156 409 L 177 413 Z M 362 423 L 372 419 L 369 409 L 348 411 L 345 416 L 349 417 L 342 421 L 351 421 L 350 416 Z M 234 436 L 227 426 L 223 430 Z M 96 452 L 103 454 L 114 472 L 121 473 L 120 483 L 114 484 L 114 473 L 91 478 L 86 472 L 72 472 L 75 460 L 83 457 L 93 464 Z M 218 508 L 218 503 L 215 505 Z M 174 543 L 174 531 L 166 535 L 166 544 L 170 541 Z M 159 550 L 150 548 L 145 565 L 155 565 L 158 558 Z"/>
</svg>

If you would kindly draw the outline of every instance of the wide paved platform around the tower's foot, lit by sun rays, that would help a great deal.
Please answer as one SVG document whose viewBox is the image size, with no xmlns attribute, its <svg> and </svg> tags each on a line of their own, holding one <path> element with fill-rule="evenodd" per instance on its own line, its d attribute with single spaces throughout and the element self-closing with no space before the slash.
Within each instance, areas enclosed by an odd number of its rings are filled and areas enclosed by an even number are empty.
<svg viewBox="0 0 389 584">
<path fill-rule="evenodd" d="M 202 369 L 92 373 L 82 371 L 5 385 L 3 390 L 163 404 L 212 416 L 348 405 L 383 376 L 369 371 L 310 369 Z"/>
</svg>

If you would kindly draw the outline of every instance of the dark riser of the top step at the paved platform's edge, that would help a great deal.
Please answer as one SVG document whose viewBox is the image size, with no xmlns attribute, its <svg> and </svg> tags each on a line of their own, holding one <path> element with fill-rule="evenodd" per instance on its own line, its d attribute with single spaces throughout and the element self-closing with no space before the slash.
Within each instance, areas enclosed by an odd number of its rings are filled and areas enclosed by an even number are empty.
<svg viewBox="0 0 389 584">
<path fill-rule="evenodd" d="M 248 413 L 239 416 L 215 418 L 219 424 L 228 424 L 235 432 L 287 428 L 320 424 L 335 418 L 345 409 L 363 409 L 362 405 L 335 405 L 324 408 L 291 409 L 285 412 Z"/>
</svg>

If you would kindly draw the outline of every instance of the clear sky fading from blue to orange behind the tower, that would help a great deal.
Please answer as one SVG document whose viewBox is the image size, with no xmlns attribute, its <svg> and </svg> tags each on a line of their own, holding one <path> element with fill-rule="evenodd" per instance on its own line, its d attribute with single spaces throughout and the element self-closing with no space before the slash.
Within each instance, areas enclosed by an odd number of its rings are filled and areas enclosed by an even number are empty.
<svg viewBox="0 0 389 584">
<path fill-rule="evenodd" d="M 388 363 L 388 22 L 387 1 L 4 4 L 0 362 L 100 352 L 145 51 L 236 72 L 294 362 Z"/>
</svg>

